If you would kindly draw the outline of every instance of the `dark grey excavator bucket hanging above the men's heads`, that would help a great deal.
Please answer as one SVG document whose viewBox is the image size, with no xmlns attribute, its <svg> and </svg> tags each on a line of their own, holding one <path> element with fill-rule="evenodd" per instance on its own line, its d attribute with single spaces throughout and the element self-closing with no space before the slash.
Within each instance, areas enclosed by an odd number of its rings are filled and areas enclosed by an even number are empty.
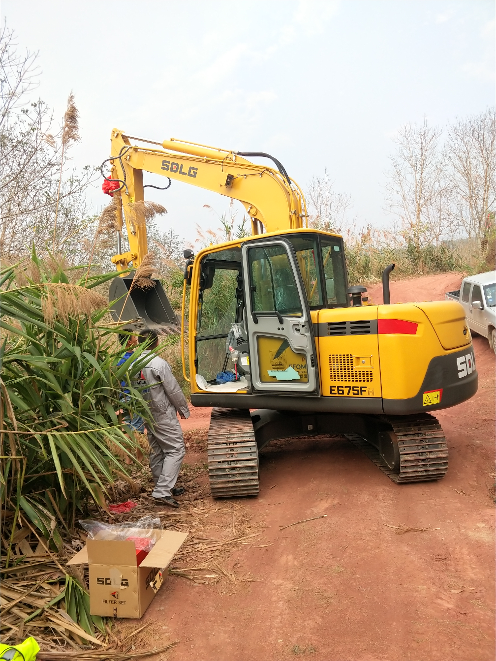
<svg viewBox="0 0 496 661">
<path fill-rule="evenodd" d="M 131 292 L 132 278 L 114 278 L 110 282 L 108 300 L 114 321 L 126 324 L 132 331 L 153 330 L 165 334 L 181 332 L 181 323 L 159 280 L 152 278 L 153 287 Z"/>
</svg>

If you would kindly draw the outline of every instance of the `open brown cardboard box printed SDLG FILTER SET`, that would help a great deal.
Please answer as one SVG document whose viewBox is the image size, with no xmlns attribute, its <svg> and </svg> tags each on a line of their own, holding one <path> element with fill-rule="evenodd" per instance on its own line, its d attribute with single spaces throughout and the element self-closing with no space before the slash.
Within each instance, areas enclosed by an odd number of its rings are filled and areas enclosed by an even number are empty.
<svg viewBox="0 0 496 661">
<path fill-rule="evenodd" d="M 143 531 L 145 536 L 146 531 Z M 154 531 L 155 546 L 138 566 L 133 541 L 87 539 L 67 564 L 89 564 L 89 609 L 104 617 L 142 617 L 186 533 Z"/>
</svg>

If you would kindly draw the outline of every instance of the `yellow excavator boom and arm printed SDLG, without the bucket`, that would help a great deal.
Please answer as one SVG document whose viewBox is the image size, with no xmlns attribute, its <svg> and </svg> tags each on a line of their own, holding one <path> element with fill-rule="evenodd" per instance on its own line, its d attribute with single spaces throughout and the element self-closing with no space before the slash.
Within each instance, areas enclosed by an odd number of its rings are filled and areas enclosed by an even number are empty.
<svg viewBox="0 0 496 661">
<path fill-rule="evenodd" d="M 300 186 L 268 154 L 240 153 L 174 138 L 153 142 L 127 136 L 116 128 L 110 139 L 112 171 L 106 178 L 120 186 L 114 191 L 117 223 L 122 231 L 126 222 L 129 239 L 129 251 L 122 253 L 118 231 L 118 254 L 112 257 L 118 271 L 128 269 L 131 263 L 138 268 L 147 253 L 144 207 L 136 204 L 144 201 L 144 171 L 239 200 L 251 218 L 254 235 L 299 229 L 306 223 Z M 268 157 L 276 169 L 251 163 L 245 156 Z"/>
</svg>

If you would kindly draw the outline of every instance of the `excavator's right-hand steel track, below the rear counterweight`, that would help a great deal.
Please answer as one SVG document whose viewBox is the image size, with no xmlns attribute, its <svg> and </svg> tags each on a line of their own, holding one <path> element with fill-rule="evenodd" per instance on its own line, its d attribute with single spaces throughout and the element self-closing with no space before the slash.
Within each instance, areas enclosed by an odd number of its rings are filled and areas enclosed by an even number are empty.
<svg viewBox="0 0 496 661">
<path fill-rule="evenodd" d="M 429 413 L 409 416 L 381 416 L 390 424 L 399 448 L 399 471 L 391 469 L 379 450 L 357 434 L 346 434 L 352 444 L 386 473 L 396 484 L 440 480 L 448 470 L 448 446 L 444 432 Z"/>
</svg>

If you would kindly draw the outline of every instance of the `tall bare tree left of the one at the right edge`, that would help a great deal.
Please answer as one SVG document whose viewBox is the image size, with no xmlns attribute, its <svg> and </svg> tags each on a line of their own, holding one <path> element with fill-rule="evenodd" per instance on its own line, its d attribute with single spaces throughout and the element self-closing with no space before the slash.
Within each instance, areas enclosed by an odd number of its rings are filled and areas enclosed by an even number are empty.
<svg viewBox="0 0 496 661">
<path fill-rule="evenodd" d="M 400 221 L 402 234 L 418 251 L 427 243 L 452 238 L 451 182 L 440 145 L 442 129 L 424 120 L 406 124 L 394 139 L 386 171 L 384 209 Z"/>
</svg>

